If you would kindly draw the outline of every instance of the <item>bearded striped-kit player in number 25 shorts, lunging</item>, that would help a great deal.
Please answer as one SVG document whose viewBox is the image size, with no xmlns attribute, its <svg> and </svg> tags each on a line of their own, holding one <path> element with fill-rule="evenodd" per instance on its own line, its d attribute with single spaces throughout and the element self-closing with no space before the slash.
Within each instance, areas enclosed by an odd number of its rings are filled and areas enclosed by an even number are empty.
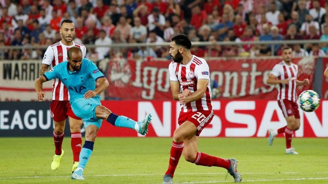
<svg viewBox="0 0 328 184">
<path fill-rule="evenodd" d="M 200 166 L 226 168 L 235 182 L 241 181 L 237 160 L 222 159 L 198 151 L 198 136 L 213 119 L 210 70 L 206 60 L 192 55 L 191 41 L 185 34 L 174 36 L 170 44 L 170 84 L 174 100 L 179 100 L 180 125 L 173 134 L 169 168 L 163 183 L 173 183 L 173 176 L 181 154 L 188 162 Z"/>
</svg>

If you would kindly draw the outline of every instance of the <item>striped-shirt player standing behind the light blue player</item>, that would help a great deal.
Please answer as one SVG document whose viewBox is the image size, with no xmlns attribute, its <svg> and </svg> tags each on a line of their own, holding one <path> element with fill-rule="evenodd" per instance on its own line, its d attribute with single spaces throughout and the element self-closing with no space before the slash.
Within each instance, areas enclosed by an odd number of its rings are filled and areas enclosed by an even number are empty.
<svg viewBox="0 0 328 184">
<path fill-rule="evenodd" d="M 61 40 L 48 47 L 40 68 L 40 75 L 53 68 L 55 65 L 66 61 L 67 50 L 72 47 L 79 47 L 82 50 L 83 57 L 86 56 L 87 49 L 83 44 L 77 44 L 73 41 L 75 36 L 75 27 L 72 20 L 65 19 L 61 22 L 59 33 Z M 81 125 L 82 120 L 75 116 L 69 103 L 70 95 L 67 88 L 59 79 L 54 79 L 52 89 L 52 101 L 50 103 L 51 118 L 54 121 L 55 129 L 53 131 L 53 140 L 55 143 L 55 155 L 51 163 L 51 169 L 59 168 L 60 159 L 64 155 L 61 149 L 64 139 L 64 130 L 66 119 L 69 120 L 71 130 L 71 147 L 73 151 L 73 167 L 72 172 L 76 169 L 79 162 L 79 154 L 81 151 L 82 136 Z"/>
</svg>

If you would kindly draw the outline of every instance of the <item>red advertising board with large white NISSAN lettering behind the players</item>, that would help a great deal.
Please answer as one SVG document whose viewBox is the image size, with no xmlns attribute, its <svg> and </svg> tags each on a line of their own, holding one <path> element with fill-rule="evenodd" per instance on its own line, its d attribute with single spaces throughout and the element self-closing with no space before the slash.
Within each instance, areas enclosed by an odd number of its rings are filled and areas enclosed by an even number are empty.
<svg viewBox="0 0 328 184">
<path fill-rule="evenodd" d="M 112 112 L 127 116 L 136 121 L 152 114 L 152 123 L 147 136 L 170 137 L 178 127 L 178 101 L 103 101 Z M 286 125 L 285 119 L 273 100 L 221 100 L 213 101 L 215 117 L 203 129 L 200 136 L 207 137 L 265 137 L 270 128 Z M 300 129 L 296 137 L 328 137 L 328 101 L 322 101 L 315 112 L 300 110 Z M 134 130 L 114 127 L 103 122 L 98 136 L 142 136 Z M 283 136 L 282 134 L 280 136 Z"/>
</svg>

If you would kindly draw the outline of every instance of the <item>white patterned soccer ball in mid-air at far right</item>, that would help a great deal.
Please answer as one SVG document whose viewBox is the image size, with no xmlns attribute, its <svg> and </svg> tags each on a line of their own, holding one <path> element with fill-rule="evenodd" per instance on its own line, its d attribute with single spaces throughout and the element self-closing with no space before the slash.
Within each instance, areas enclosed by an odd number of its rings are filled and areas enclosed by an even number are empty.
<svg viewBox="0 0 328 184">
<path fill-rule="evenodd" d="M 298 104 L 305 112 L 313 112 L 320 105 L 320 98 L 314 90 L 304 90 L 298 96 Z"/>
</svg>

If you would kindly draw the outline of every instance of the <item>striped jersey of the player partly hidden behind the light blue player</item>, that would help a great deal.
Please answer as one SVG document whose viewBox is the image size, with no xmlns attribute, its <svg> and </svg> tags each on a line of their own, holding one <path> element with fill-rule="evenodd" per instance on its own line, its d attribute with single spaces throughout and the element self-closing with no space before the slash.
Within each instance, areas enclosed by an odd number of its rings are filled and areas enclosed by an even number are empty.
<svg viewBox="0 0 328 184">
<path fill-rule="evenodd" d="M 61 41 L 50 45 L 43 57 L 42 64 L 50 65 L 50 68 L 53 68 L 58 63 L 61 63 L 63 61 L 67 61 L 67 50 L 71 47 L 78 47 L 81 49 L 83 57 L 86 57 L 87 49 L 85 45 L 83 44 L 77 44 L 73 41 L 73 44 L 70 46 L 67 46 Z M 70 95 L 68 93 L 68 90 L 66 86 L 59 80 L 54 79 L 54 82 L 52 84 L 52 100 L 70 100 Z"/>
</svg>

